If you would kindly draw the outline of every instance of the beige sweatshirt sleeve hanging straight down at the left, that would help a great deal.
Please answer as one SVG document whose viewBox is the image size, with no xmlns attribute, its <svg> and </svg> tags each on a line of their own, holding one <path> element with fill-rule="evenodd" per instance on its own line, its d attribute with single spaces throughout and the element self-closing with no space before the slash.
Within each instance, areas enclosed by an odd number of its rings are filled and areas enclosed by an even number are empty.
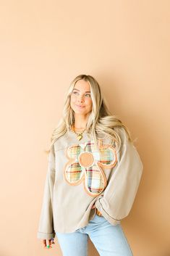
<svg viewBox="0 0 170 256">
<path fill-rule="evenodd" d="M 43 189 L 43 202 L 41 216 L 38 226 L 38 239 L 51 239 L 55 237 L 53 221 L 53 191 L 55 181 L 55 153 L 54 146 L 48 154 L 48 170 L 46 174 L 45 186 Z"/>
</svg>

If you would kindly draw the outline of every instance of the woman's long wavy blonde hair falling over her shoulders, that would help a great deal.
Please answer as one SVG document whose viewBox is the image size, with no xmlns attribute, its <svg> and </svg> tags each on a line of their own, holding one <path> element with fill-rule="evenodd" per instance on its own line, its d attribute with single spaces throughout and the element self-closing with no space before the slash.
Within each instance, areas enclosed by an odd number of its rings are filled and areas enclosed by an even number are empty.
<svg viewBox="0 0 170 256">
<path fill-rule="evenodd" d="M 64 109 L 62 112 L 62 117 L 59 120 L 58 125 L 54 128 L 54 131 L 51 135 L 51 145 L 46 153 L 49 153 L 51 150 L 51 146 L 54 145 L 55 141 L 59 139 L 59 137 L 63 136 L 64 133 L 70 130 L 72 124 L 75 122 L 75 115 L 72 107 L 70 105 L 70 96 L 72 94 L 72 90 L 75 86 L 77 80 L 85 80 L 90 85 L 91 99 L 92 99 L 92 111 L 88 117 L 88 122 L 86 123 L 86 131 L 93 136 L 93 140 L 96 148 L 98 149 L 98 142 L 96 133 L 103 133 L 104 137 L 111 138 L 111 144 L 116 141 L 116 149 L 119 150 L 119 146 L 121 144 L 121 139 L 119 134 L 116 133 L 114 128 L 123 127 L 127 133 L 127 138 L 130 142 L 132 142 L 131 134 L 126 125 L 119 120 L 119 117 L 116 115 L 111 115 L 109 111 L 108 104 L 106 102 L 105 97 L 101 93 L 101 88 L 91 75 L 78 75 L 72 82 L 70 83 L 67 94 L 64 96 Z"/>
</svg>

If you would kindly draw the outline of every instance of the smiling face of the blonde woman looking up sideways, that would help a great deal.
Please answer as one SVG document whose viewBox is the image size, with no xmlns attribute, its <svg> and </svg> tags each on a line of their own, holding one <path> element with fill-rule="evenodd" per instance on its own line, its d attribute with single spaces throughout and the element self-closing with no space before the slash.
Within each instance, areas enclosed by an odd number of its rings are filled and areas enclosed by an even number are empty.
<svg viewBox="0 0 170 256">
<path fill-rule="evenodd" d="M 76 114 L 87 115 L 92 110 L 90 85 L 85 80 L 77 80 L 72 90 L 70 105 Z"/>
</svg>

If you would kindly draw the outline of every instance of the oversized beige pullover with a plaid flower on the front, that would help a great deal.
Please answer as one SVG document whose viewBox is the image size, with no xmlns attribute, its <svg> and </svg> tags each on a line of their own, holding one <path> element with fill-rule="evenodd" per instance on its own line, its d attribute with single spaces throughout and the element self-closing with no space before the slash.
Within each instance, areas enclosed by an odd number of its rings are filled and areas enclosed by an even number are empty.
<svg viewBox="0 0 170 256">
<path fill-rule="evenodd" d="M 78 141 L 71 130 L 51 147 L 38 239 L 51 239 L 56 231 L 71 233 L 87 226 L 96 208 L 112 225 L 127 217 L 143 162 L 124 128 L 114 129 L 122 141 L 118 150 L 111 146 L 109 137 L 98 134 L 98 151 L 89 133 L 83 133 Z M 95 208 L 91 209 L 93 204 Z"/>
</svg>

